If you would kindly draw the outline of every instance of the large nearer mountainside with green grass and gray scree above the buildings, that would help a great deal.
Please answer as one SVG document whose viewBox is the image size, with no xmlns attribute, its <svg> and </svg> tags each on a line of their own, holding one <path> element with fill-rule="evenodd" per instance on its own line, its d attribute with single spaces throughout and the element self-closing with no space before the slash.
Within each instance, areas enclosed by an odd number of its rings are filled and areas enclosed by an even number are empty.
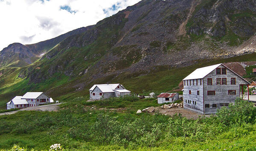
<svg viewBox="0 0 256 151">
<path fill-rule="evenodd" d="M 0 97 L 40 90 L 67 99 L 106 82 L 136 92 L 170 91 L 197 67 L 255 61 L 255 25 L 255 0 L 141 0 L 45 45 L 53 48 L 15 74 L 0 70 L 2 87 L 10 89 Z"/>
</svg>

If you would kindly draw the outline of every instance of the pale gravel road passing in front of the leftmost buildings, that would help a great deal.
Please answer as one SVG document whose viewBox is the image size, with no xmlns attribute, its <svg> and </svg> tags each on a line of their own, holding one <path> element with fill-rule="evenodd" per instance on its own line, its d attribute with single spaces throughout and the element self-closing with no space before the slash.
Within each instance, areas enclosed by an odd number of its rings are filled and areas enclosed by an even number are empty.
<svg viewBox="0 0 256 151">
<path fill-rule="evenodd" d="M 59 109 L 59 106 L 57 106 L 57 105 L 60 105 L 60 104 L 62 104 L 62 103 L 22 108 L 21 110 L 18 110 L 18 111 L 57 111 Z M 18 111 L 11 111 L 11 112 L 6 112 L 6 113 L 0 113 L 0 115 L 15 114 Z"/>
</svg>

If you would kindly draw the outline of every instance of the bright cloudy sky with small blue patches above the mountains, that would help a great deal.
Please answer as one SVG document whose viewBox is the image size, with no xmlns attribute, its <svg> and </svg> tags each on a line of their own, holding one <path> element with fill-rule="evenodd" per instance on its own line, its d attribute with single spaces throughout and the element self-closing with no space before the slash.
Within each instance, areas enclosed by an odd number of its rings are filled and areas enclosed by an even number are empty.
<svg viewBox="0 0 256 151">
<path fill-rule="evenodd" d="M 0 0 L 0 51 L 96 24 L 140 0 Z"/>
</svg>

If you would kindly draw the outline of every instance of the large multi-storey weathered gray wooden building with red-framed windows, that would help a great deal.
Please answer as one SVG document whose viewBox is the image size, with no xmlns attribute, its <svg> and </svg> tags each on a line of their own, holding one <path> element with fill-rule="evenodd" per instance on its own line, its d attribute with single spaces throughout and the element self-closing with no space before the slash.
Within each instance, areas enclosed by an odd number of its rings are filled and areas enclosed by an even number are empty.
<svg viewBox="0 0 256 151">
<path fill-rule="evenodd" d="M 197 68 L 183 79 L 183 107 L 201 114 L 215 114 L 234 103 L 250 83 L 222 63 Z M 240 91 L 241 90 L 241 91 Z M 248 98 L 249 98 L 249 94 Z"/>
</svg>

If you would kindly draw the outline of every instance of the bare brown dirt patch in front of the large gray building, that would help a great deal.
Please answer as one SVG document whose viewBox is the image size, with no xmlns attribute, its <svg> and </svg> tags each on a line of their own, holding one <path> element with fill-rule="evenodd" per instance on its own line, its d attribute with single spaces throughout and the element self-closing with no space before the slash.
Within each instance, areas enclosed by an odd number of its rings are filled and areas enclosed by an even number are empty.
<svg viewBox="0 0 256 151">
<path fill-rule="evenodd" d="M 160 107 L 155 108 L 155 112 L 161 113 L 161 114 L 166 114 L 169 116 L 173 116 L 175 114 L 181 114 L 182 117 L 186 117 L 187 119 L 198 119 L 199 117 L 209 117 L 210 115 L 203 115 L 200 113 L 197 113 L 195 111 L 191 111 L 185 108 L 167 108 L 163 109 Z"/>
</svg>

